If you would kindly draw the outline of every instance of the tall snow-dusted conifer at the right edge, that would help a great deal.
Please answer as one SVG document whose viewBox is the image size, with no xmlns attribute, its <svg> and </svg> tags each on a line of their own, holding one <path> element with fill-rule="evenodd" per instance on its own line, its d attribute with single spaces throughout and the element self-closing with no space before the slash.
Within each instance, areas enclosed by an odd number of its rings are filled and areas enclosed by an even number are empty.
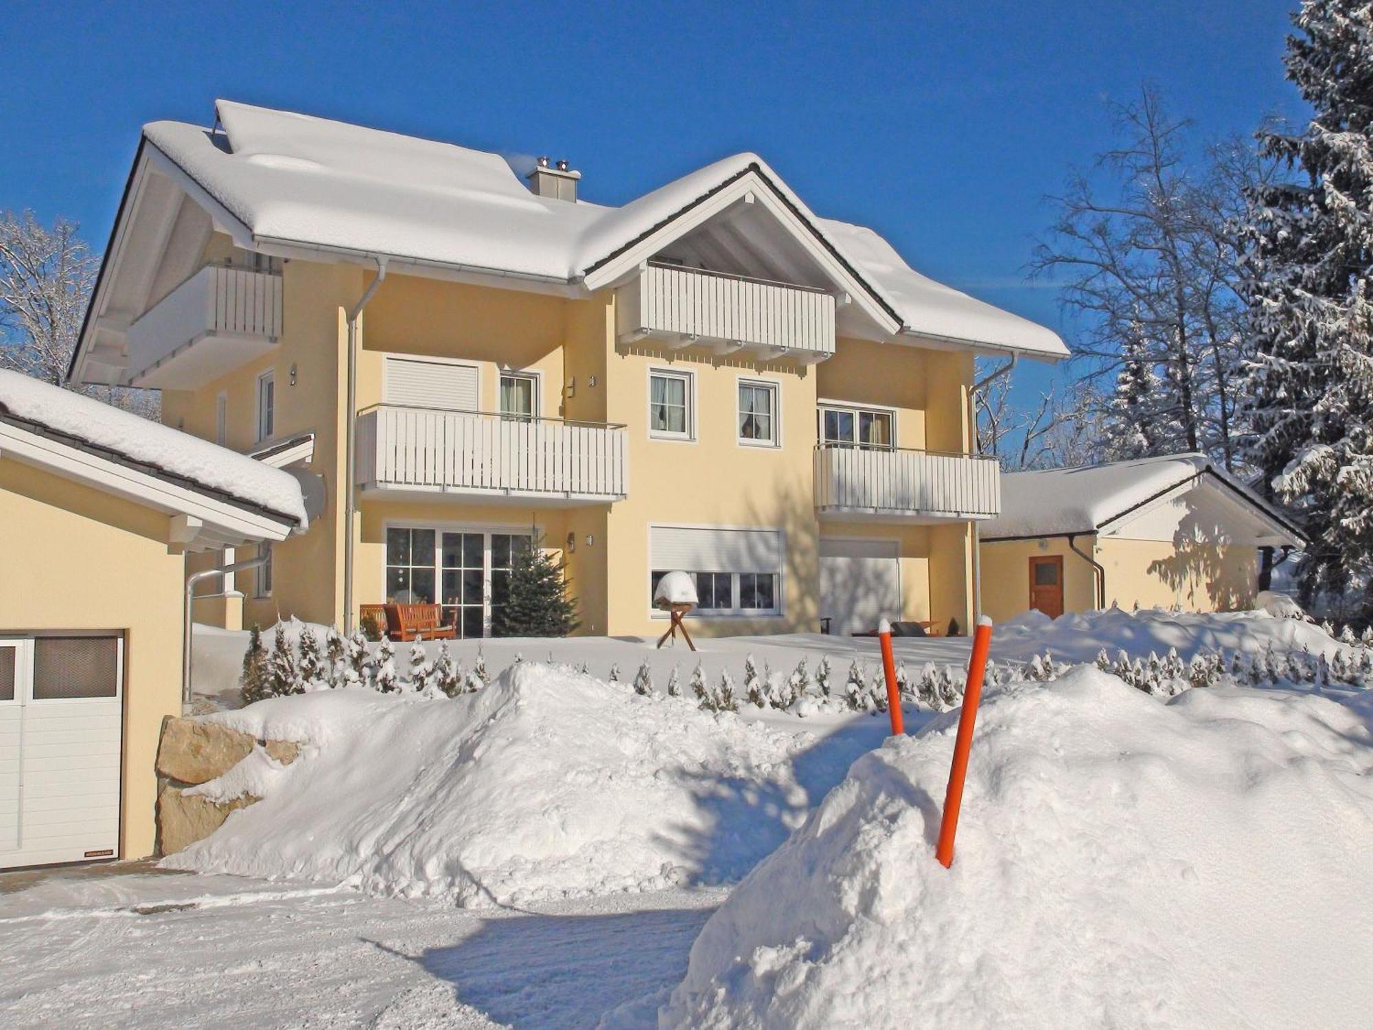
<svg viewBox="0 0 1373 1030">
<path fill-rule="evenodd" d="M 1310 604 L 1373 560 L 1373 8 L 1304 0 L 1295 23 L 1284 63 L 1314 113 L 1299 133 L 1259 133 L 1293 174 L 1249 194 L 1248 457 L 1306 522 Z"/>
</svg>

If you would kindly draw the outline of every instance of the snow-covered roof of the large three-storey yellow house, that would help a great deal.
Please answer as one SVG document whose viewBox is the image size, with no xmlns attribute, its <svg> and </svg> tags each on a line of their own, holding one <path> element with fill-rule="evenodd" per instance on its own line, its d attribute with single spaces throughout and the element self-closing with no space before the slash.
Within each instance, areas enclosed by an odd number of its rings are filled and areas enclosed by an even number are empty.
<svg viewBox="0 0 1373 1030">
<path fill-rule="evenodd" d="M 578 283 L 735 179 L 755 173 L 916 336 L 1067 356 L 1050 330 L 935 283 L 872 229 L 818 218 L 757 154 L 621 207 L 535 196 L 498 154 L 220 100 L 224 133 L 159 121 L 144 136 L 257 243 Z"/>
</svg>

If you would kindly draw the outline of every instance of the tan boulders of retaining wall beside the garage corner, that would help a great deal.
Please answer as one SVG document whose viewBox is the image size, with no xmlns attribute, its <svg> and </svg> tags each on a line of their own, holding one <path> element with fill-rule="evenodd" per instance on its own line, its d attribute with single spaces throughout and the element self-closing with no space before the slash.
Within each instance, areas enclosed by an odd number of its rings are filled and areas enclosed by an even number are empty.
<svg viewBox="0 0 1373 1030">
<path fill-rule="evenodd" d="M 261 744 L 268 757 L 290 765 L 299 746 L 290 740 L 255 740 L 217 722 L 169 716 L 158 744 L 158 854 L 172 854 L 194 845 L 222 825 L 231 812 L 261 801 L 243 794 L 227 802 L 187 794 L 224 776 Z"/>
</svg>

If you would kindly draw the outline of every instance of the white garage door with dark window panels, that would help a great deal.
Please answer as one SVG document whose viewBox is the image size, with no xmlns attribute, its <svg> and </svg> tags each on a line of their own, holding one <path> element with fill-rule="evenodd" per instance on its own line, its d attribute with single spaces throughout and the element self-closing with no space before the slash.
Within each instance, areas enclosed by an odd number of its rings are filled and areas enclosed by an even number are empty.
<svg viewBox="0 0 1373 1030">
<path fill-rule="evenodd" d="M 0 639 L 0 868 L 114 858 L 124 640 Z"/>
</svg>

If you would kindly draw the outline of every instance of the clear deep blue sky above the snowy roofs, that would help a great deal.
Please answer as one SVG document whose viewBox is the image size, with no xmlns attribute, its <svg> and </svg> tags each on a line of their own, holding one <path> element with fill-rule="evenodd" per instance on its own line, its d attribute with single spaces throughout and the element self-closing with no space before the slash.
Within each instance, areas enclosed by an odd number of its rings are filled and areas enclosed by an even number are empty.
<svg viewBox="0 0 1373 1030">
<path fill-rule="evenodd" d="M 1105 103 L 1148 80 L 1199 139 L 1299 115 L 1280 65 L 1293 5 L 21 3 L 0 207 L 103 246 L 139 126 L 209 124 L 217 96 L 567 157 L 607 203 L 754 150 L 816 211 L 1067 334 L 1024 269 L 1045 196 L 1109 143 Z"/>
</svg>

